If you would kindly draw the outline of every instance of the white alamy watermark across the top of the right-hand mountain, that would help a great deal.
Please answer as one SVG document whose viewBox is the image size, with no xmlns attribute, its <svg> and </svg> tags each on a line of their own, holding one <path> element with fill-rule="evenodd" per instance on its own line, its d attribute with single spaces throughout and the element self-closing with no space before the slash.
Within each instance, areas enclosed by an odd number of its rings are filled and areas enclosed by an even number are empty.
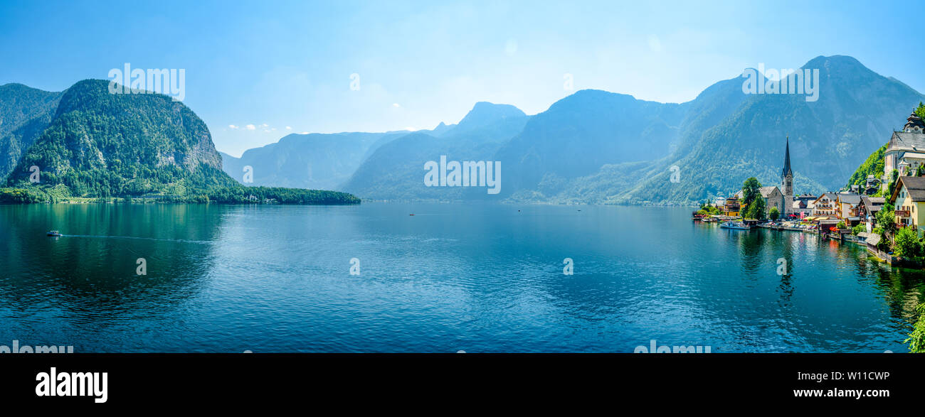
<svg viewBox="0 0 925 417">
<path fill-rule="evenodd" d="M 806 101 L 819 100 L 819 68 L 765 70 L 759 64 L 758 69 L 742 71 L 742 77 L 746 78 L 742 82 L 746 94 L 804 94 Z"/>
</svg>

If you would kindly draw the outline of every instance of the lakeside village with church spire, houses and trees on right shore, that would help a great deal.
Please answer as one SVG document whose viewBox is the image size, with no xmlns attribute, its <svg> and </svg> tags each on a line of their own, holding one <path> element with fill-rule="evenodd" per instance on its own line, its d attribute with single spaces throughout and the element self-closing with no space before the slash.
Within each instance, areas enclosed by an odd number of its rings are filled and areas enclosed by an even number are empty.
<svg viewBox="0 0 925 417">
<path fill-rule="evenodd" d="M 701 205 L 693 220 L 731 230 L 756 228 L 819 234 L 867 247 L 890 265 L 925 267 L 925 123 L 915 112 L 894 131 L 883 153 L 881 176 L 837 192 L 794 195 L 786 139 L 780 186 L 748 178 L 731 197 Z"/>
</svg>

